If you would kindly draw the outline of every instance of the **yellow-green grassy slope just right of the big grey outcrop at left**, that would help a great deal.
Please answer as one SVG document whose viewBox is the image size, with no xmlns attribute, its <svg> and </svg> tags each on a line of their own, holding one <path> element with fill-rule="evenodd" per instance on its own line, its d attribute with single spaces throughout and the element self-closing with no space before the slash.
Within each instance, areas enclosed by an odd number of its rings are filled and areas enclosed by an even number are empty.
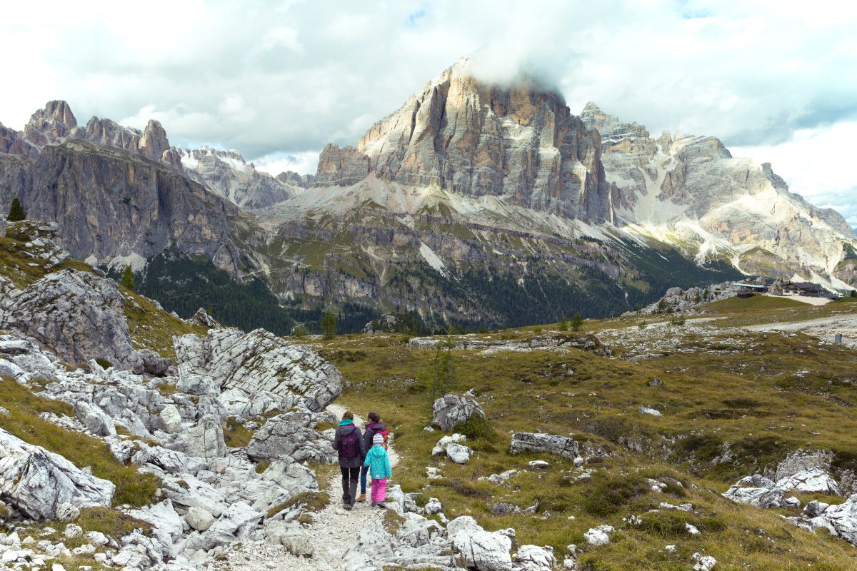
<svg viewBox="0 0 857 571">
<path fill-rule="evenodd" d="M 152 349 L 162 357 L 176 360 L 176 351 L 172 347 L 172 337 L 195 333 L 205 336 L 207 328 L 201 325 L 185 323 L 169 313 L 159 309 L 142 295 L 127 288 L 120 288 L 125 298 L 125 320 L 134 347 Z"/>
</svg>

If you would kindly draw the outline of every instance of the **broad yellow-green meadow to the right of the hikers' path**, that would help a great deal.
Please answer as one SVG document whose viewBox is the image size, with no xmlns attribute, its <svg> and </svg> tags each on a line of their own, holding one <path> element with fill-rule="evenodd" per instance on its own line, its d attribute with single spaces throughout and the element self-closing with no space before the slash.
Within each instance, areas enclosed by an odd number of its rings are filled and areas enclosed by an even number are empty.
<svg viewBox="0 0 857 571">
<path fill-rule="evenodd" d="M 711 313 L 728 326 L 742 318 L 768 322 L 780 314 L 797 320 L 851 311 L 841 304 L 814 307 L 773 298 L 749 300 L 746 312 L 734 309 L 745 307 L 739 305 L 745 301 L 711 304 Z M 638 330 L 638 321 L 585 321 L 577 335 L 616 327 Z M 560 335 L 536 329 L 476 339 Z M 438 497 L 450 519 L 470 514 L 489 529 L 514 527 L 518 543 L 553 545 L 557 553 L 564 553 L 567 544 L 584 546 L 590 527 L 616 527 L 610 544 L 583 547 L 584 569 L 686 569 L 696 551 L 715 556 L 724 569 L 857 566 L 857 548 L 825 533 L 802 531 L 780 517 L 799 510 L 755 509 L 720 495 L 740 477 L 775 468 L 799 448 L 830 449 L 835 467 L 857 467 L 857 352 L 819 346 L 801 334 L 747 333 L 737 340 L 740 346 L 734 336 L 716 330 L 703 335 L 674 327 L 656 335 L 683 336 L 682 352 L 632 362 L 573 348 L 453 350 L 455 390 L 474 389 L 487 414 L 486 422 L 471 420 L 453 429 L 466 433 L 475 451 L 465 465 L 432 456 L 443 432 L 423 431 L 431 421 L 433 350 L 411 348 L 405 336 L 339 336 L 317 347 L 360 387 L 346 390 L 340 402 L 352 410 L 378 410 L 393 431 L 400 456 L 393 482 L 422 492 L 417 503 Z M 662 386 L 648 386 L 652 378 L 662 379 Z M 639 413 L 641 405 L 657 408 L 662 417 Z M 590 461 L 576 468 L 556 456 L 511 455 L 513 431 L 574 437 Z M 727 446 L 731 457 L 724 459 Z M 528 461 L 535 459 L 550 462 L 548 470 L 528 470 Z M 443 479 L 428 479 L 426 467 L 438 467 Z M 509 469 L 518 473 L 506 485 L 479 479 Z M 592 471 L 588 478 L 586 470 Z M 652 491 L 649 479 L 668 487 Z M 812 495 L 800 499 L 806 502 Z M 492 515 L 491 505 L 500 502 L 520 509 L 537 504 L 538 509 L 535 515 Z M 662 502 L 692 503 L 694 509 L 650 512 Z M 642 524 L 627 524 L 630 515 Z M 686 522 L 701 535 L 689 535 Z M 677 550 L 667 552 L 666 544 Z"/>
</svg>

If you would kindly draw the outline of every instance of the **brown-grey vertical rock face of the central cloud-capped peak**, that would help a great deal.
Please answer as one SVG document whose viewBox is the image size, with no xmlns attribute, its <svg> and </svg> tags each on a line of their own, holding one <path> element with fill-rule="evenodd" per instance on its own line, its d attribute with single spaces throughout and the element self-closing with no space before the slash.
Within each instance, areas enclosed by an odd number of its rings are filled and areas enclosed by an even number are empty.
<svg viewBox="0 0 857 571">
<path fill-rule="evenodd" d="M 388 181 L 436 186 L 600 223 L 612 220 L 601 142 L 565 101 L 522 81 L 490 86 L 458 62 L 375 123 L 357 145 L 327 146 L 314 186 L 353 184 L 343 165 Z M 339 176 L 339 179 L 337 178 Z"/>
</svg>

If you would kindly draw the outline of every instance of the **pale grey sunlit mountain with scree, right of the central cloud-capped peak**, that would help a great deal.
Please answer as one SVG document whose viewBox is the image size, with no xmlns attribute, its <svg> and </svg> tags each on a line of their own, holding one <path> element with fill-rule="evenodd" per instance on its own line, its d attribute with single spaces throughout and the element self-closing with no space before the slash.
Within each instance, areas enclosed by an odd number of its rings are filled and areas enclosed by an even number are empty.
<svg viewBox="0 0 857 571">
<path fill-rule="evenodd" d="M 581 116 L 602 134 L 615 224 L 628 235 L 674 245 L 698 262 L 728 259 L 748 274 L 849 283 L 837 265 L 854 232 L 838 212 L 789 193 L 770 164 L 734 158 L 715 137 L 652 139 L 592 103 Z"/>
</svg>

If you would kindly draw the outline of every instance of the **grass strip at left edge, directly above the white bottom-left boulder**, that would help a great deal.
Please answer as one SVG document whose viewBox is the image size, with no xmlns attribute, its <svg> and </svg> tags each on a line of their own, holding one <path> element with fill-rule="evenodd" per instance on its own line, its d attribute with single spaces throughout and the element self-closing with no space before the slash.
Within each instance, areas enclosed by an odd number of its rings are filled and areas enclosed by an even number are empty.
<svg viewBox="0 0 857 571">
<path fill-rule="evenodd" d="M 9 378 L 0 380 L 0 402 L 9 410 L 9 414 L 0 414 L 0 428 L 27 443 L 62 455 L 77 467 L 92 467 L 95 476 L 116 485 L 113 503 L 143 506 L 154 501 L 155 491 L 160 487 L 157 476 L 139 473 L 134 466 L 117 461 L 99 438 L 70 431 L 39 416 L 39 413 L 74 416 L 69 404 L 33 395 L 27 387 Z"/>
</svg>

